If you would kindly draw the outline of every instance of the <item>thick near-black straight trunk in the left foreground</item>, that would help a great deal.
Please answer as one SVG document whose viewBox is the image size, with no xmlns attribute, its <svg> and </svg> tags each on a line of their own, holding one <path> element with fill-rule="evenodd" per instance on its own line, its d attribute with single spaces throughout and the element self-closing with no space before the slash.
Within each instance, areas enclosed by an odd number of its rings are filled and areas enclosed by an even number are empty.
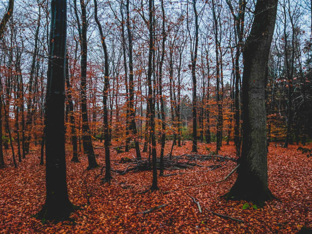
<svg viewBox="0 0 312 234">
<path fill-rule="evenodd" d="M 36 215 L 42 222 L 65 220 L 74 211 L 67 193 L 65 161 L 66 1 L 51 1 L 50 25 L 46 95 L 46 199 L 42 210 Z"/>
</svg>

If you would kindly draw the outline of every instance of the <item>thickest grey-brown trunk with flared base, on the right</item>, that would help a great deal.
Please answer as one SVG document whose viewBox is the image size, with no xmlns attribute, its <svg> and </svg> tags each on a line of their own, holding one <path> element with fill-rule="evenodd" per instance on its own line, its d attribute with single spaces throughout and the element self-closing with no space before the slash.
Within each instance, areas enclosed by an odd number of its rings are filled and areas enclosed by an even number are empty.
<svg viewBox="0 0 312 234">
<path fill-rule="evenodd" d="M 265 109 L 266 67 L 273 37 L 277 0 L 258 0 L 243 58 L 243 146 L 238 177 L 229 199 L 264 205 L 273 199 L 268 188 Z"/>
</svg>

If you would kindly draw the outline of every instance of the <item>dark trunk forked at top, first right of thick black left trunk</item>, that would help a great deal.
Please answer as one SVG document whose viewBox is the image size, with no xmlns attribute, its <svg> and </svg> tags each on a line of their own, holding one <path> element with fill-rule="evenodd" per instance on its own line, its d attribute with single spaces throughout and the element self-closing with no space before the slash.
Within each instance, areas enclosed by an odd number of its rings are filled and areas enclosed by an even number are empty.
<svg viewBox="0 0 312 234">
<path fill-rule="evenodd" d="M 94 149 L 92 145 L 91 132 L 88 122 L 88 110 L 87 110 L 87 18 L 86 18 L 86 5 L 84 0 L 80 0 L 81 13 L 82 13 L 82 25 L 80 25 L 79 16 L 77 13 L 76 0 L 74 0 L 74 11 L 77 20 L 77 26 L 79 31 L 79 39 L 81 45 L 81 112 L 82 112 L 82 140 L 84 146 L 84 152 L 88 155 L 88 170 L 98 167 L 95 159 Z"/>
</svg>

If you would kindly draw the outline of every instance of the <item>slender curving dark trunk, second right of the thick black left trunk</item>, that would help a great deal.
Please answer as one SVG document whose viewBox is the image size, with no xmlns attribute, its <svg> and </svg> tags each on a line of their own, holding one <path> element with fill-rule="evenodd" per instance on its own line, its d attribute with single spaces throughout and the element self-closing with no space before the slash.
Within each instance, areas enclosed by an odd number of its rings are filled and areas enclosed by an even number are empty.
<svg viewBox="0 0 312 234">
<path fill-rule="evenodd" d="M 103 88 L 103 126 L 104 126 L 104 148 L 105 148 L 105 177 L 103 181 L 109 182 L 112 178 L 111 176 L 111 160 L 110 160 L 110 135 L 109 135 L 109 125 L 108 125 L 108 111 L 107 111 L 107 99 L 109 90 L 109 61 L 107 46 L 105 43 L 105 37 L 103 35 L 102 26 L 97 18 L 97 1 L 94 0 L 94 18 L 97 24 L 98 31 L 100 33 L 101 44 L 104 52 L 104 64 L 105 64 L 105 77 L 104 77 L 104 88 Z"/>
</svg>

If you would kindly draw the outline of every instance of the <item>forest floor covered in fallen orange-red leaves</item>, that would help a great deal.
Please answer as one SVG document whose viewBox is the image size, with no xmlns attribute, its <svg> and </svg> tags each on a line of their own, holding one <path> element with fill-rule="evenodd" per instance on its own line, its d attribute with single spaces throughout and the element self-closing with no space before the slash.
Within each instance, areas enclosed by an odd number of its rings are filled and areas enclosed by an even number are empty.
<svg viewBox="0 0 312 234">
<path fill-rule="evenodd" d="M 208 154 L 207 147 L 215 149 L 215 144 L 198 145 L 198 154 Z M 96 146 L 101 145 L 98 142 Z M 171 143 L 166 143 L 165 154 L 170 147 Z M 312 147 L 312 144 L 308 147 Z M 236 173 L 222 183 L 180 190 L 223 179 L 236 167 L 232 161 L 196 162 L 203 166 L 221 164 L 222 167 L 215 170 L 207 167 L 165 170 L 165 174 L 186 173 L 159 177 L 159 191 L 138 194 L 150 188 L 150 171 L 131 171 L 124 175 L 113 172 L 111 184 L 102 185 L 104 173 L 96 178 L 101 167 L 86 171 L 87 158 L 81 155 L 81 163 L 72 163 L 70 146 L 66 148 L 69 198 L 73 204 L 82 207 L 72 214 L 74 222 L 42 225 L 32 218 L 45 200 L 45 166 L 39 165 L 40 151 L 34 147 L 27 158 L 18 163 L 18 168 L 12 165 L 11 152 L 5 153 L 7 167 L 0 169 L 0 233 L 296 233 L 302 226 L 312 227 L 312 162 L 311 158 L 297 151 L 297 145 L 282 148 L 271 143 L 268 154 L 269 188 L 279 199 L 267 202 L 262 209 L 254 209 L 252 203 L 248 203 L 247 207 L 245 201 L 220 198 L 235 182 Z M 191 143 L 187 142 L 183 147 L 175 146 L 173 155 L 191 153 L 191 149 Z M 95 151 L 99 154 L 98 163 L 104 165 L 103 149 Z M 225 145 L 224 142 L 220 155 L 234 158 L 233 143 Z M 120 164 L 119 160 L 134 156 L 134 149 L 119 154 L 112 149 L 112 168 L 126 168 L 127 164 Z M 147 157 L 147 154 L 143 153 L 142 157 Z M 163 193 L 169 190 L 176 191 Z M 199 201 L 202 213 L 199 213 L 191 196 Z M 162 204 L 167 205 L 140 214 Z M 243 206 L 247 208 L 243 209 Z M 243 220 L 244 223 L 218 217 L 206 209 Z"/>
</svg>

